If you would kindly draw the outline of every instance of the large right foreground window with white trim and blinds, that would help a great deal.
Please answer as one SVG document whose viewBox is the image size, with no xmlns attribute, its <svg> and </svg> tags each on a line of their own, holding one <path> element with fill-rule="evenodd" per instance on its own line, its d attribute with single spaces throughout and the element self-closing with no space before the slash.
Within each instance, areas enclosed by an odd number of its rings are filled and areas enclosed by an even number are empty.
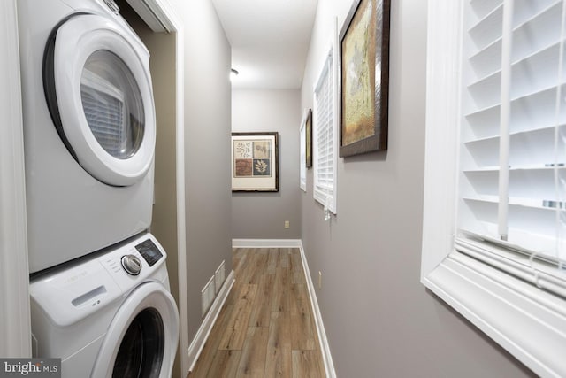
<svg viewBox="0 0 566 378">
<path fill-rule="evenodd" d="M 566 376 L 565 4 L 429 3 L 422 282 Z"/>
</svg>

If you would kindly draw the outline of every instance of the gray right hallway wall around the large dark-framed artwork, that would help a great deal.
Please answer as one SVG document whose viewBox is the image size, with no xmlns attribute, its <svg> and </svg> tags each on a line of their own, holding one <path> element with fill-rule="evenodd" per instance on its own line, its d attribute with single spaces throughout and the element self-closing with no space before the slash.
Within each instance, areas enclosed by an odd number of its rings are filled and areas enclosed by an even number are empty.
<svg viewBox="0 0 566 378">
<path fill-rule="evenodd" d="M 302 108 L 333 18 L 350 1 L 320 1 Z M 302 194 L 302 241 L 341 377 L 520 377 L 529 373 L 419 282 L 424 182 L 427 2 L 392 2 L 389 148 L 338 161 L 338 214 L 325 222 Z M 340 28 L 340 27 L 339 27 Z"/>
</svg>

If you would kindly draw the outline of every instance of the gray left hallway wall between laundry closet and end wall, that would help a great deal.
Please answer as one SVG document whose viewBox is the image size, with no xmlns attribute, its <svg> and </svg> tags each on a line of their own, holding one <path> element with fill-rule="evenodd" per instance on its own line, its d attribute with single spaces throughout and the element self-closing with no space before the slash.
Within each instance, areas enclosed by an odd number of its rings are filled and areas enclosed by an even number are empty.
<svg viewBox="0 0 566 378">
<path fill-rule="evenodd" d="M 201 326 L 201 289 L 232 270 L 231 50 L 208 0 L 175 0 L 185 28 L 185 190 L 188 339 Z"/>
</svg>

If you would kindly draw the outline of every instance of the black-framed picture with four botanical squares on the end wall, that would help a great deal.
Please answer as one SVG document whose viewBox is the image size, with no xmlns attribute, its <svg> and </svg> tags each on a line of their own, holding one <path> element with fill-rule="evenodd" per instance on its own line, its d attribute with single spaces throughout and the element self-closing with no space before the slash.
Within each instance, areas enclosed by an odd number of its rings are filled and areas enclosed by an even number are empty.
<svg viewBox="0 0 566 378">
<path fill-rule="evenodd" d="M 279 191 L 277 133 L 232 133 L 232 191 Z"/>
</svg>

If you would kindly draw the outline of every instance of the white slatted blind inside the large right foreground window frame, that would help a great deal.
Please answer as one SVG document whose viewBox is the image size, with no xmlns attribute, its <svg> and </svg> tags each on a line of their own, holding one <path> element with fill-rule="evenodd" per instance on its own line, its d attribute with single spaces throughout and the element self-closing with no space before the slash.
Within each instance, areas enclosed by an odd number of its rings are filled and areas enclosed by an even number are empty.
<svg viewBox="0 0 566 378">
<path fill-rule="evenodd" d="M 466 1 L 456 240 L 458 251 L 562 297 L 564 3 Z"/>
</svg>

